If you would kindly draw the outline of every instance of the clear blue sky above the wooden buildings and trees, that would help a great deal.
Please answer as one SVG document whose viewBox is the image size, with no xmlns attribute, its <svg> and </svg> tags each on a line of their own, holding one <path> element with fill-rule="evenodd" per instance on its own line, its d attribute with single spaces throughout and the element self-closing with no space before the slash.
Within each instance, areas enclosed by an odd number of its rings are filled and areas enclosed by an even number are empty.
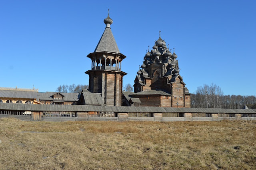
<svg viewBox="0 0 256 170">
<path fill-rule="evenodd" d="M 148 46 L 161 37 L 175 47 L 190 92 L 214 83 L 224 94 L 256 95 L 256 1 L 0 0 L 0 87 L 55 91 L 88 84 L 86 56 L 112 32 L 134 84 Z"/>
</svg>

